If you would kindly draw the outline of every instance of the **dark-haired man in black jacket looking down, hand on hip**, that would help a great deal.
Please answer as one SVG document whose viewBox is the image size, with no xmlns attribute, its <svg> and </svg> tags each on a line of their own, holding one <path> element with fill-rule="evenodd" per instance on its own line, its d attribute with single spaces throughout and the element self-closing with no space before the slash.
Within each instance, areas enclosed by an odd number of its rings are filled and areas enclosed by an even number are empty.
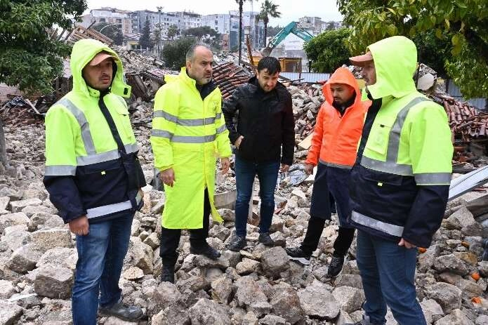
<svg viewBox="0 0 488 325">
<path fill-rule="evenodd" d="M 249 200 L 256 174 L 261 197 L 258 241 L 267 246 L 274 244 L 269 230 L 275 211 L 275 187 L 279 164 L 281 162 L 282 172 L 288 171 L 293 164 L 295 145 L 291 95 L 278 83 L 279 72 L 281 68 L 276 58 L 261 59 L 256 77 L 251 78 L 248 84 L 237 88 L 223 105 L 230 142 L 237 148 L 236 231 L 227 247 L 232 251 L 239 251 L 246 246 Z M 236 114 L 237 126 L 233 120 Z"/>
</svg>

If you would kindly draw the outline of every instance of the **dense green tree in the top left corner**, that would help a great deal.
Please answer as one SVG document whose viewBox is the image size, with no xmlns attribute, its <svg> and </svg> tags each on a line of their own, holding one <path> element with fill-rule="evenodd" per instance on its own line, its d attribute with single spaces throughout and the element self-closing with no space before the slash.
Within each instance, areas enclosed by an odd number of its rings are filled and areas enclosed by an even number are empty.
<svg viewBox="0 0 488 325">
<path fill-rule="evenodd" d="M 72 29 L 86 10 L 84 0 L 1 0 L 0 82 L 49 93 L 71 47 L 51 39 L 53 26 Z"/>
</svg>

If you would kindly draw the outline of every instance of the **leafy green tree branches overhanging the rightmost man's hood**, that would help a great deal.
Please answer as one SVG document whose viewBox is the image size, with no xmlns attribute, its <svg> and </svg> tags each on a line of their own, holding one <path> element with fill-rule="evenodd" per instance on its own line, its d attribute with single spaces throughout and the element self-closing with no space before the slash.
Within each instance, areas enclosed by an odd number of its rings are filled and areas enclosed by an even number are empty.
<svg viewBox="0 0 488 325">
<path fill-rule="evenodd" d="M 393 35 L 414 39 L 433 31 L 448 42 L 444 66 L 467 98 L 488 97 L 488 2 L 486 0 L 337 0 L 352 28 L 352 53 Z M 423 57 L 423 54 L 420 55 Z"/>
</svg>

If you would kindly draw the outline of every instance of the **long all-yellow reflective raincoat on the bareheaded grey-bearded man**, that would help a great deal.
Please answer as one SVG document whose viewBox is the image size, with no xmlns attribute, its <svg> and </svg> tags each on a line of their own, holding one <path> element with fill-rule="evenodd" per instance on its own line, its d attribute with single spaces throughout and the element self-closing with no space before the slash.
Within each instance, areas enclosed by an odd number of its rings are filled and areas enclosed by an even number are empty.
<svg viewBox="0 0 488 325">
<path fill-rule="evenodd" d="M 166 77 L 154 99 L 151 145 L 154 166 L 173 168 L 173 187 L 164 186 L 166 204 L 162 226 L 199 229 L 203 226 L 204 190 L 208 189 L 211 214 L 221 222 L 213 205 L 216 159 L 230 157 L 228 131 L 222 115 L 220 90 L 212 83 L 204 100 L 185 67 L 178 77 Z M 212 81 L 211 81 L 212 82 Z"/>
</svg>

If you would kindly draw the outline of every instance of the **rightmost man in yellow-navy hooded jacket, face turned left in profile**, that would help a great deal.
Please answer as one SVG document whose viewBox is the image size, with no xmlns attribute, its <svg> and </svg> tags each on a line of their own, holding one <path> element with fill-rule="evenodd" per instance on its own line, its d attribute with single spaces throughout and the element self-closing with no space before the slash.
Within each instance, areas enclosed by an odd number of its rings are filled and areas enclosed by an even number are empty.
<svg viewBox="0 0 488 325">
<path fill-rule="evenodd" d="M 451 181 L 451 131 L 444 108 L 416 91 L 417 51 L 389 37 L 350 58 L 363 68 L 372 104 L 351 171 L 350 223 L 357 227 L 357 267 L 366 303 L 357 324 L 425 325 L 416 300 L 416 246 L 439 229 Z"/>
</svg>

